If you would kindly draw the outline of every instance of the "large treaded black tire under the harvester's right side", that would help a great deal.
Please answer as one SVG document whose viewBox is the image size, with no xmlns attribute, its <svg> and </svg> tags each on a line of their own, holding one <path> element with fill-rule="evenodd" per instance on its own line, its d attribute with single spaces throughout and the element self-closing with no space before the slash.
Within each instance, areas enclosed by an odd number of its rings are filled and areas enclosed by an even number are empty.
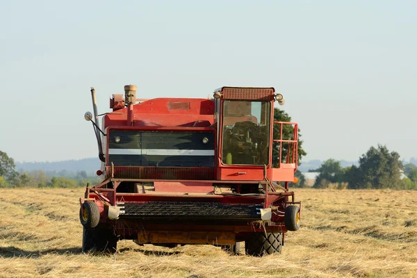
<svg viewBox="0 0 417 278">
<path fill-rule="evenodd" d="M 281 253 L 281 233 L 253 233 L 245 240 L 245 252 L 250 256 Z"/>
</svg>

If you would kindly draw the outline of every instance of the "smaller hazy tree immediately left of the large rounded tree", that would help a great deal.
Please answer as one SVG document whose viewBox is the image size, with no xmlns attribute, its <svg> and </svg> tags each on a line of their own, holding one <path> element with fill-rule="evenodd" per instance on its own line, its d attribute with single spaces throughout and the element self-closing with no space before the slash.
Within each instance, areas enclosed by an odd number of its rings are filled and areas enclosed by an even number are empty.
<svg viewBox="0 0 417 278">
<path fill-rule="evenodd" d="M 323 162 L 318 169 L 312 172 L 320 172 L 313 188 L 327 188 L 329 183 L 343 183 L 345 181 L 345 170 L 341 166 L 340 161 L 330 158 Z"/>
</svg>

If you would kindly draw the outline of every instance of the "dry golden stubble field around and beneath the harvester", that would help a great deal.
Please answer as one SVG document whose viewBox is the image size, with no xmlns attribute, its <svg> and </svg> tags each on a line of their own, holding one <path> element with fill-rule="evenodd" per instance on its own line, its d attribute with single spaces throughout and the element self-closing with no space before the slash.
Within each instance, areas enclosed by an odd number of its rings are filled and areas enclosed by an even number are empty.
<svg viewBox="0 0 417 278">
<path fill-rule="evenodd" d="M 302 229 L 281 254 L 231 256 L 122 240 L 82 254 L 83 188 L 0 190 L 0 277 L 417 277 L 417 192 L 295 190 Z"/>
</svg>

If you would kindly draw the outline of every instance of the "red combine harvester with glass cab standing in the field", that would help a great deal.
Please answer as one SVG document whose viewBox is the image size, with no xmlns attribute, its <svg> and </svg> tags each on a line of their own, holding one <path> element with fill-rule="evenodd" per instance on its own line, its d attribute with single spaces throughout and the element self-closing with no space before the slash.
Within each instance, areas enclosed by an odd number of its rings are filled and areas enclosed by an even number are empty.
<svg viewBox="0 0 417 278">
<path fill-rule="evenodd" d="M 113 95 L 100 129 L 91 88 L 94 117 L 87 112 L 85 120 L 95 129 L 103 179 L 80 199 L 83 251 L 115 252 L 118 240 L 133 239 L 231 252 L 245 241 L 252 256 L 280 252 L 301 213 L 288 190 L 296 182 L 297 124 L 274 122 L 282 95 L 222 87 L 213 99 L 140 100 L 136 85 L 124 91 Z"/>
</svg>

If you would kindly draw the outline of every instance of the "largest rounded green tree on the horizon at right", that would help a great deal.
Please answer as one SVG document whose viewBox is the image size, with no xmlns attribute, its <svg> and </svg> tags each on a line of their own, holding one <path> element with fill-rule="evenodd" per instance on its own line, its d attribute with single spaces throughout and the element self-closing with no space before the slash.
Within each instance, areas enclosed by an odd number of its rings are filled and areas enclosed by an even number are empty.
<svg viewBox="0 0 417 278">
<path fill-rule="evenodd" d="M 402 163 L 397 152 L 386 146 L 370 147 L 359 158 L 359 167 L 351 167 L 347 174 L 349 188 L 401 188 Z"/>
</svg>

